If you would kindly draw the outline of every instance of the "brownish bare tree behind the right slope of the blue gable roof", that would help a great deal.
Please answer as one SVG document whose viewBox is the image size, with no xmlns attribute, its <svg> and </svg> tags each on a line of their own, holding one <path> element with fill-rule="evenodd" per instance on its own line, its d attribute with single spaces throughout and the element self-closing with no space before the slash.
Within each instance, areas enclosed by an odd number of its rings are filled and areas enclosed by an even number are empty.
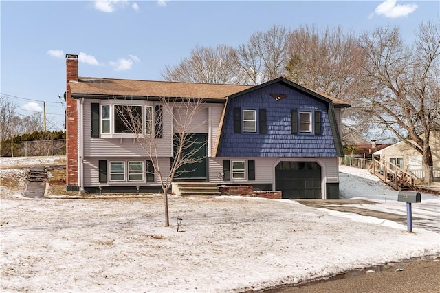
<svg viewBox="0 0 440 293">
<path fill-rule="evenodd" d="M 351 102 L 359 87 L 358 76 L 365 56 L 353 32 L 344 33 L 340 26 L 318 30 L 305 25 L 293 30 L 289 39 L 287 78 L 303 87 Z M 342 132 L 369 135 L 369 116 L 363 109 L 344 109 Z"/>
</svg>

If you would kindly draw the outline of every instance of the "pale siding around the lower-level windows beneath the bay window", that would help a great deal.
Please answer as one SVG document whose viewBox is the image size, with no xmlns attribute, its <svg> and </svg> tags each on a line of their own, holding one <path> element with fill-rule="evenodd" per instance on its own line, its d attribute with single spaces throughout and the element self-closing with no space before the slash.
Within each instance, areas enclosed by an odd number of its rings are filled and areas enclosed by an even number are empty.
<svg viewBox="0 0 440 293">
<path fill-rule="evenodd" d="M 96 187 L 96 186 L 157 186 L 160 185 L 159 175 L 155 173 L 154 182 L 109 182 L 100 183 L 99 182 L 99 160 L 107 160 L 107 164 L 109 161 L 146 161 L 148 158 L 137 158 L 137 157 L 116 157 L 116 158 L 85 158 L 84 160 L 84 173 L 87 176 L 84 176 L 84 186 L 87 187 Z M 108 165 L 107 165 L 108 166 Z M 145 165 L 144 165 L 145 168 Z M 162 175 L 166 177 L 166 175 L 170 172 L 170 158 L 159 158 L 159 169 L 161 170 Z M 109 174 L 109 169 L 107 169 L 107 174 Z"/>
</svg>

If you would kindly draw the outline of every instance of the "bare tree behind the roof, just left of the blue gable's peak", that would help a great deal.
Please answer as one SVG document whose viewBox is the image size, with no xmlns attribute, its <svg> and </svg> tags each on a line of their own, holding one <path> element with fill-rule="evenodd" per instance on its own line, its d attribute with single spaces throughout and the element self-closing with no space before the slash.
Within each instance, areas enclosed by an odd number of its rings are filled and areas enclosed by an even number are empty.
<svg viewBox="0 0 440 293">
<path fill-rule="evenodd" d="M 252 34 L 248 43 L 236 49 L 239 76 L 248 85 L 258 85 L 283 76 L 287 62 L 289 30 L 274 25 L 267 32 Z"/>
</svg>

